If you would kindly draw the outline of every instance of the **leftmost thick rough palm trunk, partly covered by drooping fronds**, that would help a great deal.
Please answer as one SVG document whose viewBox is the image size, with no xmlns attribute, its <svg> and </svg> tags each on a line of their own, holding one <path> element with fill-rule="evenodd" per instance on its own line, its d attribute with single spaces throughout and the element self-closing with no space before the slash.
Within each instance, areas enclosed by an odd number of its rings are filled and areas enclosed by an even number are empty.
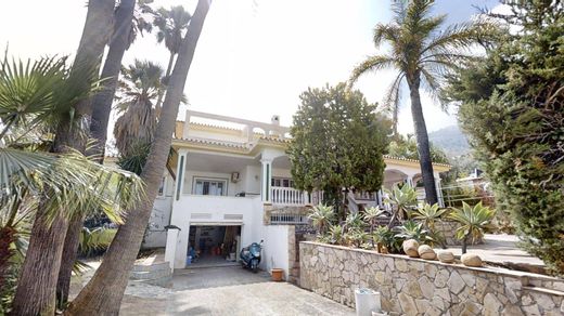
<svg viewBox="0 0 564 316">
<path fill-rule="evenodd" d="M 66 90 L 57 91 L 55 100 L 61 105 L 70 105 L 59 114 L 60 122 L 54 132 L 53 153 L 68 153 L 86 149 L 86 128 L 90 116 L 90 95 L 69 98 L 77 92 L 91 92 L 92 81 L 98 79 L 101 58 L 113 26 L 114 0 L 89 0 L 88 12 L 78 44 L 74 65 L 67 78 L 61 80 Z M 53 92 L 54 93 L 54 92 Z M 56 200 L 56 192 L 46 188 L 44 199 Z M 53 219 L 47 215 L 48 205 L 39 202 L 38 212 L 31 227 L 17 290 L 13 301 L 14 315 L 53 314 L 56 282 L 61 268 L 64 240 L 68 229 L 68 219 L 63 216 L 66 206 Z M 73 212 L 70 212 L 73 213 Z M 40 280 L 40 282 L 38 281 Z"/>
</svg>

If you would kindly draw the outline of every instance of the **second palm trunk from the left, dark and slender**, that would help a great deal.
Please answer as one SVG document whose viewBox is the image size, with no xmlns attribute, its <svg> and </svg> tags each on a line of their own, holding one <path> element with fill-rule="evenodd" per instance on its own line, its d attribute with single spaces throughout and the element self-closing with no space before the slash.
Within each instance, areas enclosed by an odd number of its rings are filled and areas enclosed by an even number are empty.
<svg viewBox="0 0 564 316">
<path fill-rule="evenodd" d="M 121 69 L 121 60 L 129 45 L 129 35 L 131 31 L 134 8 L 136 0 L 121 0 L 119 8 L 116 10 L 114 36 L 110 41 L 110 49 L 107 51 L 101 76 L 101 78 L 106 80 L 103 82 L 102 90 L 97 93 L 92 100 L 90 132 L 92 137 L 95 140 L 95 144 L 92 149 L 89 150 L 88 155 L 95 155 L 95 159 L 99 163 L 104 162 L 110 111 L 112 110 L 112 101 L 114 100 L 117 79 L 119 70 Z M 82 224 L 82 218 L 73 219 L 66 233 L 62 259 L 63 262 L 61 263 L 61 271 L 59 273 L 56 286 L 56 297 L 61 303 L 66 303 L 68 300 L 70 276 L 77 258 L 78 239 L 80 237 Z"/>
</svg>

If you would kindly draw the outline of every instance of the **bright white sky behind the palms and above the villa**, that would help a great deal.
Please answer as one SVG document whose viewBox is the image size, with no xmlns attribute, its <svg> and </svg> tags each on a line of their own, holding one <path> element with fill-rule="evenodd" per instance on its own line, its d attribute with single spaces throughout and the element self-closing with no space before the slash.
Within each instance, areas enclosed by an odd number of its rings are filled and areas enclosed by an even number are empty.
<svg viewBox="0 0 564 316">
<path fill-rule="evenodd" d="M 86 4 L 86 0 L 5 1 L 0 48 L 8 44 L 10 54 L 20 58 L 72 55 Z M 189 12 L 195 8 L 194 0 L 155 0 L 152 6 L 176 4 Z M 437 0 L 433 13 L 448 14 L 447 24 L 460 23 L 476 14 L 475 6 L 498 4 Z M 390 0 L 214 0 L 185 84 L 188 108 L 265 122 L 279 115 L 281 123 L 290 126 L 303 91 L 347 80 L 358 63 L 379 52 L 372 31 L 390 16 Z M 149 34 L 126 52 L 124 64 L 140 58 L 166 68 L 168 56 L 164 44 Z M 356 88 L 369 102 L 380 102 L 393 78 L 393 71 L 367 75 Z M 402 98 L 400 133 L 413 132 L 408 102 L 409 97 Z M 422 103 L 430 132 L 457 123 L 453 109 L 444 113 L 426 94 Z"/>
</svg>

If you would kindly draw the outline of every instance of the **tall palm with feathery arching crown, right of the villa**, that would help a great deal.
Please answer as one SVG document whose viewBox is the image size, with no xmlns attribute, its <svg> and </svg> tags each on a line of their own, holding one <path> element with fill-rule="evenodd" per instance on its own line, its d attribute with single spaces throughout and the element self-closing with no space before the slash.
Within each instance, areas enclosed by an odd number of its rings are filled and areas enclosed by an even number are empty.
<svg viewBox="0 0 564 316">
<path fill-rule="evenodd" d="M 418 141 L 419 160 L 428 203 L 437 202 L 433 175 L 427 128 L 421 107 L 420 88 L 438 95 L 443 76 L 461 60 L 470 58 L 470 49 L 476 42 L 477 24 L 452 25 L 441 30 L 446 15 L 431 16 L 433 0 L 396 1 L 394 18 L 374 29 L 374 44 L 390 47 L 387 54 L 369 56 L 359 64 L 350 78 L 355 82 L 361 75 L 393 68 L 398 71 L 384 98 L 392 109 L 397 126 L 400 88 L 407 82 L 411 97 L 411 115 Z M 397 133 L 397 130 L 396 130 Z"/>
</svg>

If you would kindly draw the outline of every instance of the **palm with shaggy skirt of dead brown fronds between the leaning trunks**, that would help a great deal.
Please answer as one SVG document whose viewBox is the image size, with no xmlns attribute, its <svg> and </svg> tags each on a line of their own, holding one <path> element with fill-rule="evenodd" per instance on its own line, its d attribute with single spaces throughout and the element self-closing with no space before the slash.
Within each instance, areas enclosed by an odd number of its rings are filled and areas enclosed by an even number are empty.
<svg viewBox="0 0 564 316">
<path fill-rule="evenodd" d="M 120 155 L 129 156 L 132 148 L 153 140 L 157 123 L 154 102 L 163 89 L 163 69 L 152 62 L 136 60 L 123 74 L 124 96 L 116 106 L 121 116 L 116 120 L 114 136 Z"/>
</svg>

